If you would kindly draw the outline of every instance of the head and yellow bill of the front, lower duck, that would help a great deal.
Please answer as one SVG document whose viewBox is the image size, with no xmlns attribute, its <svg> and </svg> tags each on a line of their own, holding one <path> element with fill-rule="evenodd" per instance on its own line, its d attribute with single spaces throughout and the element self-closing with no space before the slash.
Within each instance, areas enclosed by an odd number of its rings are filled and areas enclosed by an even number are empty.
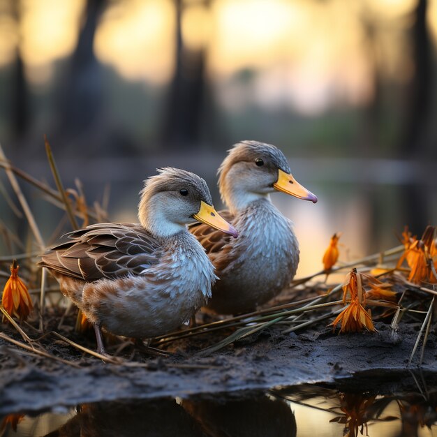
<svg viewBox="0 0 437 437">
<path fill-rule="evenodd" d="M 171 167 L 158 169 L 158 175 L 145 180 L 140 195 L 138 218 L 156 237 L 171 237 L 185 230 L 193 218 L 233 237 L 238 235 L 216 212 L 206 182 L 194 173 Z"/>
</svg>

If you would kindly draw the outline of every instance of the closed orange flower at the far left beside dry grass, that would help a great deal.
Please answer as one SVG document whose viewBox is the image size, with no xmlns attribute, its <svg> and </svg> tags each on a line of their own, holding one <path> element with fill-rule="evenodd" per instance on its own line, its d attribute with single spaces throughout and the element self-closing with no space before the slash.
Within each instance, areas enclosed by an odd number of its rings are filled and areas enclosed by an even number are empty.
<svg viewBox="0 0 437 437">
<path fill-rule="evenodd" d="M 24 282 L 18 277 L 17 260 L 10 265 L 10 277 L 3 288 L 3 297 L 1 304 L 6 309 L 10 316 L 16 316 L 22 320 L 26 320 L 30 312 L 34 308 L 27 287 Z"/>
</svg>

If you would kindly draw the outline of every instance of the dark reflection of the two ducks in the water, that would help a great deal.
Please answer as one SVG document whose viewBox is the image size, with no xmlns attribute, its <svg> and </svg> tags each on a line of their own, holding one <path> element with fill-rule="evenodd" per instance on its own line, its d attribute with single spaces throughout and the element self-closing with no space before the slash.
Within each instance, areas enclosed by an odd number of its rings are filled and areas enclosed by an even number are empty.
<svg viewBox="0 0 437 437">
<path fill-rule="evenodd" d="M 207 437 L 296 436 L 296 421 L 288 403 L 265 394 L 230 399 L 195 399 L 177 402 L 175 399 L 152 401 L 119 401 L 89 403 L 77 406 L 75 414 L 29 416 L 12 422 L 18 415 L 6 418 L 4 436 L 45 437 Z M 57 417 L 55 417 L 57 416 Z M 65 417 L 52 431 L 53 420 Z M 41 434 L 42 431 L 42 434 Z"/>
</svg>

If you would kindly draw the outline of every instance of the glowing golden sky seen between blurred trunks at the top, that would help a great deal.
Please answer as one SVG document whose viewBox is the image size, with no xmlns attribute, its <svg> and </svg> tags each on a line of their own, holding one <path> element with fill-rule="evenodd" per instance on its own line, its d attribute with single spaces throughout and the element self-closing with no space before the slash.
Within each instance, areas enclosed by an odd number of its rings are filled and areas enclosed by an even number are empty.
<svg viewBox="0 0 437 437">
<path fill-rule="evenodd" d="M 337 100 L 353 105 L 369 101 L 375 68 L 397 82 L 411 77 L 399 35 L 416 4 L 216 0 L 205 6 L 191 1 L 184 3 L 182 36 L 190 50 L 207 48 L 207 72 L 228 109 L 244 99 L 233 92 L 235 98 L 227 98 L 218 82 L 249 69 L 257 73 L 251 101 L 313 114 Z M 84 0 L 24 0 L 20 28 L 12 15 L 0 15 L 0 66 L 13 61 L 20 45 L 29 80 L 50 80 L 54 61 L 75 48 L 84 6 Z M 428 8 L 430 31 L 437 39 L 437 0 L 429 1 Z M 373 30 L 377 50 L 369 49 L 366 23 L 371 22 L 378 23 Z M 96 56 L 128 80 L 166 84 L 175 68 L 175 29 L 171 0 L 109 2 L 96 31 Z"/>
</svg>

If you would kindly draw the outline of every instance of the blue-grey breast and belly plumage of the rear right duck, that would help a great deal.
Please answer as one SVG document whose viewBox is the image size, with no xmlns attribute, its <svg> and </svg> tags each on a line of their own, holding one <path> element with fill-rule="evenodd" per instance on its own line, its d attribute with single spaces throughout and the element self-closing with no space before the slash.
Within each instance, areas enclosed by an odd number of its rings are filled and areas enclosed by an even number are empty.
<svg viewBox="0 0 437 437">
<path fill-rule="evenodd" d="M 251 311 L 267 302 L 290 283 L 299 264 L 292 222 L 268 199 L 239 211 L 232 224 L 239 237 L 210 255 L 220 280 L 209 308 L 220 313 Z"/>
</svg>

